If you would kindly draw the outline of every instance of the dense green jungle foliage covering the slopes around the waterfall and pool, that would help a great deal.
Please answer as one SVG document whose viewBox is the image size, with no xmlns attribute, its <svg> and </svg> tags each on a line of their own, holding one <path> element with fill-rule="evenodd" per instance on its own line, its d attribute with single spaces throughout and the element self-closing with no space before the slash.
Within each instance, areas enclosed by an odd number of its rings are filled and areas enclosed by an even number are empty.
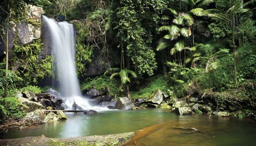
<svg viewBox="0 0 256 146">
<path fill-rule="evenodd" d="M 48 17 L 64 16 L 74 23 L 81 89 L 108 85 L 111 94 L 128 95 L 132 99 L 148 97 L 161 89 L 174 98 L 200 96 L 214 99 L 217 104 L 228 102 L 241 109 L 255 110 L 255 3 L 255 0 L 4 0 L 0 2 L 0 31 L 6 42 L 9 22 L 29 21 L 25 7 L 33 4 L 42 7 Z M 15 39 L 7 68 L 6 51 L 0 57 L 0 96 L 12 98 L 15 91 L 27 86 L 27 90 L 42 91 L 40 82 L 55 76 L 53 58 L 49 55 L 38 59 L 42 49 L 41 39 L 29 44 Z M 88 77 L 86 66 L 92 62 L 94 53 L 100 52 L 111 59 L 110 50 L 118 52 L 120 65 L 111 66 L 99 77 Z M 17 69 L 15 62 L 25 65 Z M 0 99 L 0 108 L 7 102 L 16 101 Z M 10 116 L 10 112 L 6 114 Z"/>
</svg>

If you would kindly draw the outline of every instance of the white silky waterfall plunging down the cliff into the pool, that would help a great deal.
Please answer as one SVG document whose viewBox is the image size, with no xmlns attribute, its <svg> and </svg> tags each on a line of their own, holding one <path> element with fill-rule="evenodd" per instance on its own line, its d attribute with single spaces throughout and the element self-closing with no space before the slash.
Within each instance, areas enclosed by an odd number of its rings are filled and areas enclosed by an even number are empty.
<svg viewBox="0 0 256 146">
<path fill-rule="evenodd" d="M 52 42 L 53 57 L 57 68 L 61 98 L 68 110 L 76 103 L 83 109 L 90 109 L 87 100 L 82 97 L 75 68 L 75 33 L 73 24 L 56 22 L 53 18 L 43 17 Z"/>
</svg>

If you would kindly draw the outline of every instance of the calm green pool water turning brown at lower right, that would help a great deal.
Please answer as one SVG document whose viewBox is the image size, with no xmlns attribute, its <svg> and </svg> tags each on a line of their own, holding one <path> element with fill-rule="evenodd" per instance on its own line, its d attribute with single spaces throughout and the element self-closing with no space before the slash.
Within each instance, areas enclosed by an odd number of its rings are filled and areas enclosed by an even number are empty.
<svg viewBox="0 0 256 146">
<path fill-rule="evenodd" d="M 69 138 L 117 134 L 162 126 L 128 145 L 140 146 L 254 146 L 256 120 L 203 115 L 176 115 L 169 110 L 98 111 L 96 115 L 67 114 L 68 120 L 0 133 L 1 139 L 39 136 Z M 209 118 L 210 116 L 210 118 Z M 182 128 L 196 128 L 202 132 Z"/>
</svg>

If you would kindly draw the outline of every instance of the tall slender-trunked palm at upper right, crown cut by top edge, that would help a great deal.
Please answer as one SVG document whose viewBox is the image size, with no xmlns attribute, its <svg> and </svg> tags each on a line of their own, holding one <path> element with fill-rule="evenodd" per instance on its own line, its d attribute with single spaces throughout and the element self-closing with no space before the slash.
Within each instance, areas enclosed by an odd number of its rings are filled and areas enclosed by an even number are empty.
<svg viewBox="0 0 256 146">
<path fill-rule="evenodd" d="M 205 0 L 206 1 L 206 0 Z M 235 27 L 236 22 L 235 19 L 239 20 L 243 15 L 250 12 L 250 9 L 244 8 L 247 5 L 255 3 L 255 0 L 248 1 L 247 3 L 243 3 L 243 0 L 207 0 L 208 3 L 215 3 L 219 7 L 217 9 L 208 9 L 206 13 L 215 21 L 222 22 L 226 25 L 226 29 L 231 31 L 232 44 L 231 48 L 233 49 L 233 57 L 234 57 L 234 78 L 235 83 L 237 84 L 237 70 L 236 70 L 236 44 L 235 44 Z"/>
</svg>

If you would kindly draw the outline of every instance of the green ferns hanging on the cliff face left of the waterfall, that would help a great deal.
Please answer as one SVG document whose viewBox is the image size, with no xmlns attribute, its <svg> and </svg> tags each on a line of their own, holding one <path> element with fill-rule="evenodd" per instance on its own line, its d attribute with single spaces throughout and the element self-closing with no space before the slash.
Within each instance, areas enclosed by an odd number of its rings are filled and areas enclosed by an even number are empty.
<svg viewBox="0 0 256 146">
<path fill-rule="evenodd" d="M 52 57 L 38 59 L 39 53 L 43 49 L 43 43 L 40 39 L 33 40 L 29 44 L 14 44 L 13 58 L 15 73 L 29 82 L 37 82 L 38 77 L 45 77 L 52 75 Z"/>
</svg>

